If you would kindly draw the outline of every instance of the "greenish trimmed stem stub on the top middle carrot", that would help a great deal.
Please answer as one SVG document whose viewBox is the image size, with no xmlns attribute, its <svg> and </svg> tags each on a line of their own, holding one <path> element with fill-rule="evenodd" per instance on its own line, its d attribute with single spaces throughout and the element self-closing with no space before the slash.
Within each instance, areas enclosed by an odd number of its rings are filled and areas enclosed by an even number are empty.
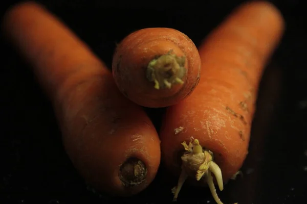
<svg viewBox="0 0 307 204">
<path fill-rule="evenodd" d="M 155 89 L 170 89 L 174 84 L 183 84 L 186 74 L 185 56 L 178 57 L 170 50 L 167 54 L 153 59 L 148 63 L 146 78 L 155 83 Z"/>
</svg>

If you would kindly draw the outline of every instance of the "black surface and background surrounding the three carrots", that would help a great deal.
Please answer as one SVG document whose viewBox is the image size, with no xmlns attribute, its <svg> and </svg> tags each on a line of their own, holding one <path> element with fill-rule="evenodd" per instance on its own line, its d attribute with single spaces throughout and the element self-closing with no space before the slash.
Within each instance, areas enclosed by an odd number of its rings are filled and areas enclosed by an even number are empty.
<svg viewBox="0 0 307 204">
<path fill-rule="evenodd" d="M 186 33 L 199 45 L 239 3 L 205 1 L 205 6 L 189 3 L 169 9 L 155 4 L 151 10 L 141 9 L 142 5 L 133 2 L 118 4 L 127 7 L 124 10 L 115 9 L 116 3 L 109 8 L 105 1 L 41 2 L 61 17 L 108 66 L 115 43 L 134 30 L 171 27 Z M 306 200 L 307 32 L 303 21 L 306 11 L 299 1 L 283 1 L 277 6 L 286 18 L 287 31 L 261 83 L 244 176 L 218 192 L 225 204 L 304 203 Z M 111 199 L 87 188 L 63 150 L 51 105 L 32 73 L 7 43 L 2 41 L 1 49 L 1 204 L 171 201 L 170 189 L 176 181 L 166 183 L 168 179 L 163 171 L 148 189 L 132 198 Z M 158 127 L 157 111 L 148 110 L 148 113 Z M 214 203 L 208 189 L 188 186 L 183 187 L 178 202 Z"/>
</svg>

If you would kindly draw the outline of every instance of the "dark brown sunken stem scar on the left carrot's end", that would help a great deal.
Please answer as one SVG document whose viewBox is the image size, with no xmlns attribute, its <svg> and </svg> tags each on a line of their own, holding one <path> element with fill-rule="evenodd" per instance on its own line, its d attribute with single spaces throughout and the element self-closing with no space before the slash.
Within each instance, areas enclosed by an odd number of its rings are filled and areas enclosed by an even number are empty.
<svg viewBox="0 0 307 204">
<path fill-rule="evenodd" d="M 120 167 L 119 179 L 125 187 L 138 186 L 145 181 L 147 168 L 137 158 L 127 159 Z"/>
</svg>

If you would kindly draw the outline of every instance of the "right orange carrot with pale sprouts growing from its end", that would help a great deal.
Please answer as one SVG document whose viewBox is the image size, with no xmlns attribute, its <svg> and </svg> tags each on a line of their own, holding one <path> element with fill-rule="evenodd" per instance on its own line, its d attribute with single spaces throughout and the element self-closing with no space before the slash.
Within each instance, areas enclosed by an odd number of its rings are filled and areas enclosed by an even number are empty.
<svg viewBox="0 0 307 204">
<path fill-rule="evenodd" d="M 194 184 L 206 181 L 215 201 L 222 203 L 211 173 L 223 190 L 223 183 L 243 165 L 259 82 L 283 30 L 283 18 L 272 4 L 249 2 L 236 8 L 201 44 L 199 85 L 181 103 L 167 108 L 162 121 L 162 160 L 171 172 L 181 170 L 174 199 L 189 178 Z M 186 152 L 182 155 L 181 150 Z"/>
</svg>

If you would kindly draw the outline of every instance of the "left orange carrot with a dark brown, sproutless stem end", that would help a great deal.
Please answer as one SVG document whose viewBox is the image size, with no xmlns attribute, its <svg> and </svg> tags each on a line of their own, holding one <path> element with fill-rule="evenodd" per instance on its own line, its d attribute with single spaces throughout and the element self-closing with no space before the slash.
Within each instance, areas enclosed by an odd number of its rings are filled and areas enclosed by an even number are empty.
<svg viewBox="0 0 307 204">
<path fill-rule="evenodd" d="M 143 109 L 118 91 L 112 72 L 37 3 L 13 6 L 2 26 L 50 98 L 65 150 L 84 180 L 110 195 L 145 189 L 160 164 L 160 140 Z"/>
</svg>

